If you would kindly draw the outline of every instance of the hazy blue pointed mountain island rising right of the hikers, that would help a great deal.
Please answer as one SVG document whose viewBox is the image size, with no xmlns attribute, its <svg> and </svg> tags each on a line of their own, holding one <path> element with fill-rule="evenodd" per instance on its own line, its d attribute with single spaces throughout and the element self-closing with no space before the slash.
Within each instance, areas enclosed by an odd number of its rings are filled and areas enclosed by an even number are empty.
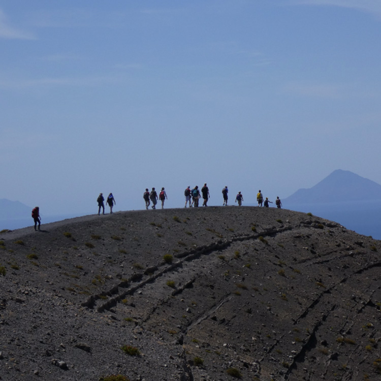
<svg viewBox="0 0 381 381">
<path fill-rule="evenodd" d="M 381 200 L 380 184 L 338 169 L 312 188 L 298 189 L 283 201 L 289 204 L 321 204 L 371 200 Z"/>
</svg>

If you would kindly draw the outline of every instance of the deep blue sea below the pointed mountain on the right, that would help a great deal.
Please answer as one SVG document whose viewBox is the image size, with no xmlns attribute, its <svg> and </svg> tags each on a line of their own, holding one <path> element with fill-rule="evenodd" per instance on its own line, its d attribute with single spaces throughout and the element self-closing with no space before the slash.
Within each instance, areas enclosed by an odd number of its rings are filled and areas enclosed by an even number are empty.
<svg viewBox="0 0 381 381">
<path fill-rule="evenodd" d="M 335 221 L 356 233 L 381 239 L 381 200 L 325 204 L 283 203 L 283 208 L 310 212 Z"/>
</svg>

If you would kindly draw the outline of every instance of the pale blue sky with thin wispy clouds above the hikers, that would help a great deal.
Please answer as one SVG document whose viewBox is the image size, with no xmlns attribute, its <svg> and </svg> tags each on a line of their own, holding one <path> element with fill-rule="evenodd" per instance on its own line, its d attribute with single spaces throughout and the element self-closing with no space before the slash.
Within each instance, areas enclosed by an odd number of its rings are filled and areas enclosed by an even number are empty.
<svg viewBox="0 0 381 381">
<path fill-rule="evenodd" d="M 379 0 L 2 0 L 0 198 L 42 214 L 381 183 Z"/>
</svg>

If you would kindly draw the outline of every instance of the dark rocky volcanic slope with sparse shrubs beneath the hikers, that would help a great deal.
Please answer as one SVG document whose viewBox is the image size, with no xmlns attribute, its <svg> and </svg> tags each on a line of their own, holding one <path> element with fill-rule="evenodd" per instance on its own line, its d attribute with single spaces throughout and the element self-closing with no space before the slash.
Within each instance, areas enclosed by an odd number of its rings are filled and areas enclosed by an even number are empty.
<svg viewBox="0 0 381 381">
<path fill-rule="evenodd" d="M 371 237 L 258 207 L 42 229 L 0 234 L 2 380 L 381 379 Z"/>
</svg>

